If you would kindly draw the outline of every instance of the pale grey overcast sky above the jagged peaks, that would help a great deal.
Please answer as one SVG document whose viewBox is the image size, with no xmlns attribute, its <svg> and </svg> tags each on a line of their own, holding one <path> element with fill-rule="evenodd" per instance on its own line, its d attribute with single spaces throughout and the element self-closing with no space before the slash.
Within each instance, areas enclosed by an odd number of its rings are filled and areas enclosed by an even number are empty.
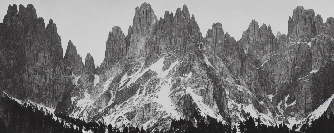
<svg viewBox="0 0 334 133">
<path fill-rule="evenodd" d="M 49 19 L 57 25 L 64 54 L 68 40 L 72 40 L 83 62 L 87 53 L 91 53 L 95 65 L 100 66 L 109 31 L 119 26 L 127 35 L 129 25 L 133 24 L 135 8 L 144 2 L 151 4 L 158 20 L 166 10 L 175 14 L 178 7 L 186 4 L 190 14 L 195 15 L 203 36 L 213 23 L 220 22 L 224 32 L 236 40 L 248 29 L 252 19 L 260 26 L 270 24 L 274 35 L 278 31 L 287 33 L 288 18 L 299 5 L 314 9 L 324 22 L 334 16 L 333 0 L 1 0 L 0 16 L 6 15 L 8 5 L 27 7 L 33 4 L 45 25 Z"/>
</svg>

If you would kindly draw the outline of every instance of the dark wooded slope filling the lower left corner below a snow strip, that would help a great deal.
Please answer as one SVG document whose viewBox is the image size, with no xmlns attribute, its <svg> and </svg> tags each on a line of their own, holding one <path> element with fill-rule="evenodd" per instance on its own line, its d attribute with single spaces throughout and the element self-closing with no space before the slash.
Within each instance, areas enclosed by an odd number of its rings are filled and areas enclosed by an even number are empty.
<svg viewBox="0 0 334 133">
<path fill-rule="evenodd" d="M 66 126 L 63 121 L 53 119 L 53 114 L 44 112 L 36 105 L 20 104 L 7 96 L 1 97 L 0 101 L 3 111 L 0 118 L 2 133 L 80 133 L 80 129 L 74 128 L 73 124 Z"/>
</svg>

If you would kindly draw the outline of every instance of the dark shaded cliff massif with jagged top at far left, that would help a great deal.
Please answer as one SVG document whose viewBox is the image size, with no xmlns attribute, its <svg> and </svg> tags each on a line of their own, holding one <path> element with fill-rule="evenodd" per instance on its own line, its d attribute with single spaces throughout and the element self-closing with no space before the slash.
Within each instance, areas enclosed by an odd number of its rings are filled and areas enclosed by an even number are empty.
<svg viewBox="0 0 334 133">
<path fill-rule="evenodd" d="M 55 107 L 72 83 L 56 24 L 45 27 L 31 4 L 9 5 L 0 29 L 1 91 Z"/>
</svg>

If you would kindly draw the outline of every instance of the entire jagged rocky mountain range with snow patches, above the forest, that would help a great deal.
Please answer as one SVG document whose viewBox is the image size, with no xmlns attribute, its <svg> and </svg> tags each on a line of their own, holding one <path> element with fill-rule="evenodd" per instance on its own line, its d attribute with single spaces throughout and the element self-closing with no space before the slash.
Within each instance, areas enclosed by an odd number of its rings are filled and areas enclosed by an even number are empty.
<svg viewBox="0 0 334 133">
<path fill-rule="evenodd" d="M 219 22 L 203 37 L 186 5 L 157 20 L 143 3 L 127 35 L 112 28 L 95 66 L 90 54 L 82 62 L 71 41 L 63 58 L 52 20 L 45 27 L 32 5 L 13 5 L 0 23 L 0 87 L 113 125 L 166 129 L 172 119 L 195 122 L 198 115 L 237 123 L 245 111 L 292 127 L 318 117 L 320 105 L 334 110 L 333 21 L 298 6 L 287 35 L 252 20 L 236 41 Z"/>
</svg>

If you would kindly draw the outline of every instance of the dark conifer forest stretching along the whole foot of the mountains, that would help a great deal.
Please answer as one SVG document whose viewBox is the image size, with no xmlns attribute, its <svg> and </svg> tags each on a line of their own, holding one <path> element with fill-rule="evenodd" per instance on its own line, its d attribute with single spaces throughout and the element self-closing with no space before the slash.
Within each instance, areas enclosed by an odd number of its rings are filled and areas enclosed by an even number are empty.
<svg viewBox="0 0 334 133">
<path fill-rule="evenodd" d="M 1 106 L 7 106 L 4 113 L 11 118 L 9 125 L 6 125 L 4 118 L 0 118 L 0 132 L 2 133 L 82 133 L 91 131 L 94 133 L 332 133 L 334 131 L 333 112 L 324 112 L 321 117 L 309 120 L 298 127 L 296 124 L 289 129 L 287 125 L 279 124 L 268 126 L 262 123 L 260 118 L 254 118 L 245 113 L 248 117 L 245 121 L 239 121 L 237 125 L 230 122 L 223 124 L 210 116 L 198 115 L 196 121 L 186 119 L 172 120 L 168 129 L 156 129 L 147 127 L 139 128 L 128 125 L 121 127 L 107 125 L 100 122 L 85 122 L 65 114 L 54 114 L 43 111 L 34 104 L 19 103 L 9 97 L 2 97 Z M 299 129 L 299 131 L 296 131 Z"/>
</svg>

